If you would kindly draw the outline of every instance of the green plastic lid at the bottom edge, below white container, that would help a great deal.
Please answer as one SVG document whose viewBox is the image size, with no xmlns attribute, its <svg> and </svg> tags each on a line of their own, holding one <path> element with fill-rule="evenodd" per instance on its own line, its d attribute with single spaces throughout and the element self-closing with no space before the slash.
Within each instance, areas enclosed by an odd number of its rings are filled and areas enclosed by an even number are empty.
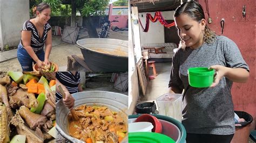
<svg viewBox="0 0 256 143">
<path fill-rule="evenodd" d="M 175 143 L 175 141 L 167 135 L 154 132 L 132 132 L 129 133 L 129 143 Z"/>
</svg>

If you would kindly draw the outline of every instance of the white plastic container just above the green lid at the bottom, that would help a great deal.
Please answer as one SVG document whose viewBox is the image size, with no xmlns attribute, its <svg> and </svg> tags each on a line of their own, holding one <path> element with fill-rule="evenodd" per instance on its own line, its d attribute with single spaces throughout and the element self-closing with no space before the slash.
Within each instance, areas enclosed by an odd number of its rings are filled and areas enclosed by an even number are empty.
<svg viewBox="0 0 256 143">
<path fill-rule="evenodd" d="M 129 133 L 131 132 L 151 132 L 154 127 L 152 123 L 147 121 L 140 121 L 135 123 L 129 123 Z"/>
</svg>

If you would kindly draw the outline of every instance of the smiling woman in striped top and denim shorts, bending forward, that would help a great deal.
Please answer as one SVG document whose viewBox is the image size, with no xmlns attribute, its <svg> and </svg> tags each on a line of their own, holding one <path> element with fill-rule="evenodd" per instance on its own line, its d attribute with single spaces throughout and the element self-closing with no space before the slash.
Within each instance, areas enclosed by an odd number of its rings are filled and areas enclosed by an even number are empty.
<svg viewBox="0 0 256 143">
<path fill-rule="evenodd" d="M 37 63 L 38 67 L 50 64 L 52 37 L 51 26 L 47 22 L 50 19 L 51 9 L 48 4 L 40 3 L 34 12 L 36 18 L 27 20 L 23 24 L 21 42 L 18 45 L 17 58 L 23 71 L 32 71 L 32 63 Z"/>
</svg>

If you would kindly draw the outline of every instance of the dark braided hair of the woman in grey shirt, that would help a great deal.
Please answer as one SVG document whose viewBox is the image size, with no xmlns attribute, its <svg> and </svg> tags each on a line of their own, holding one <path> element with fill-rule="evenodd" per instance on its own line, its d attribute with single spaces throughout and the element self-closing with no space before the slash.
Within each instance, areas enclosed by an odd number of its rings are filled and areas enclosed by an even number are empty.
<svg viewBox="0 0 256 143">
<path fill-rule="evenodd" d="M 197 22 L 201 22 L 201 19 L 205 19 L 204 10 L 202 6 L 194 1 L 185 2 L 181 4 L 175 11 L 173 17 L 178 17 L 181 14 L 186 14 Z M 215 41 L 216 34 L 210 30 L 210 28 L 205 25 L 204 29 L 204 41 L 207 43 L 212 43 Z"/>
</svg>

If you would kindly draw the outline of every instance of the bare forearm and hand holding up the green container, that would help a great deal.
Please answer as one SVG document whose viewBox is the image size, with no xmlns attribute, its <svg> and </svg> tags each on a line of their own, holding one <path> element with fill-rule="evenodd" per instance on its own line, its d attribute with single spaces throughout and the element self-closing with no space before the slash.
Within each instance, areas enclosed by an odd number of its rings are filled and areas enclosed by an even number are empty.
<svg viewBox="0 0 256 143">
<path fill-rule="evenodd" d="M 244 68 L 228 68 L 220 65 L 211 66 L 210 69 L 216 70 L 215 80 L 211 87 L 215 87 L 222 77 L 227 77 L 233 82 L 245 83 L 250 73 Z"/>
</svg>

